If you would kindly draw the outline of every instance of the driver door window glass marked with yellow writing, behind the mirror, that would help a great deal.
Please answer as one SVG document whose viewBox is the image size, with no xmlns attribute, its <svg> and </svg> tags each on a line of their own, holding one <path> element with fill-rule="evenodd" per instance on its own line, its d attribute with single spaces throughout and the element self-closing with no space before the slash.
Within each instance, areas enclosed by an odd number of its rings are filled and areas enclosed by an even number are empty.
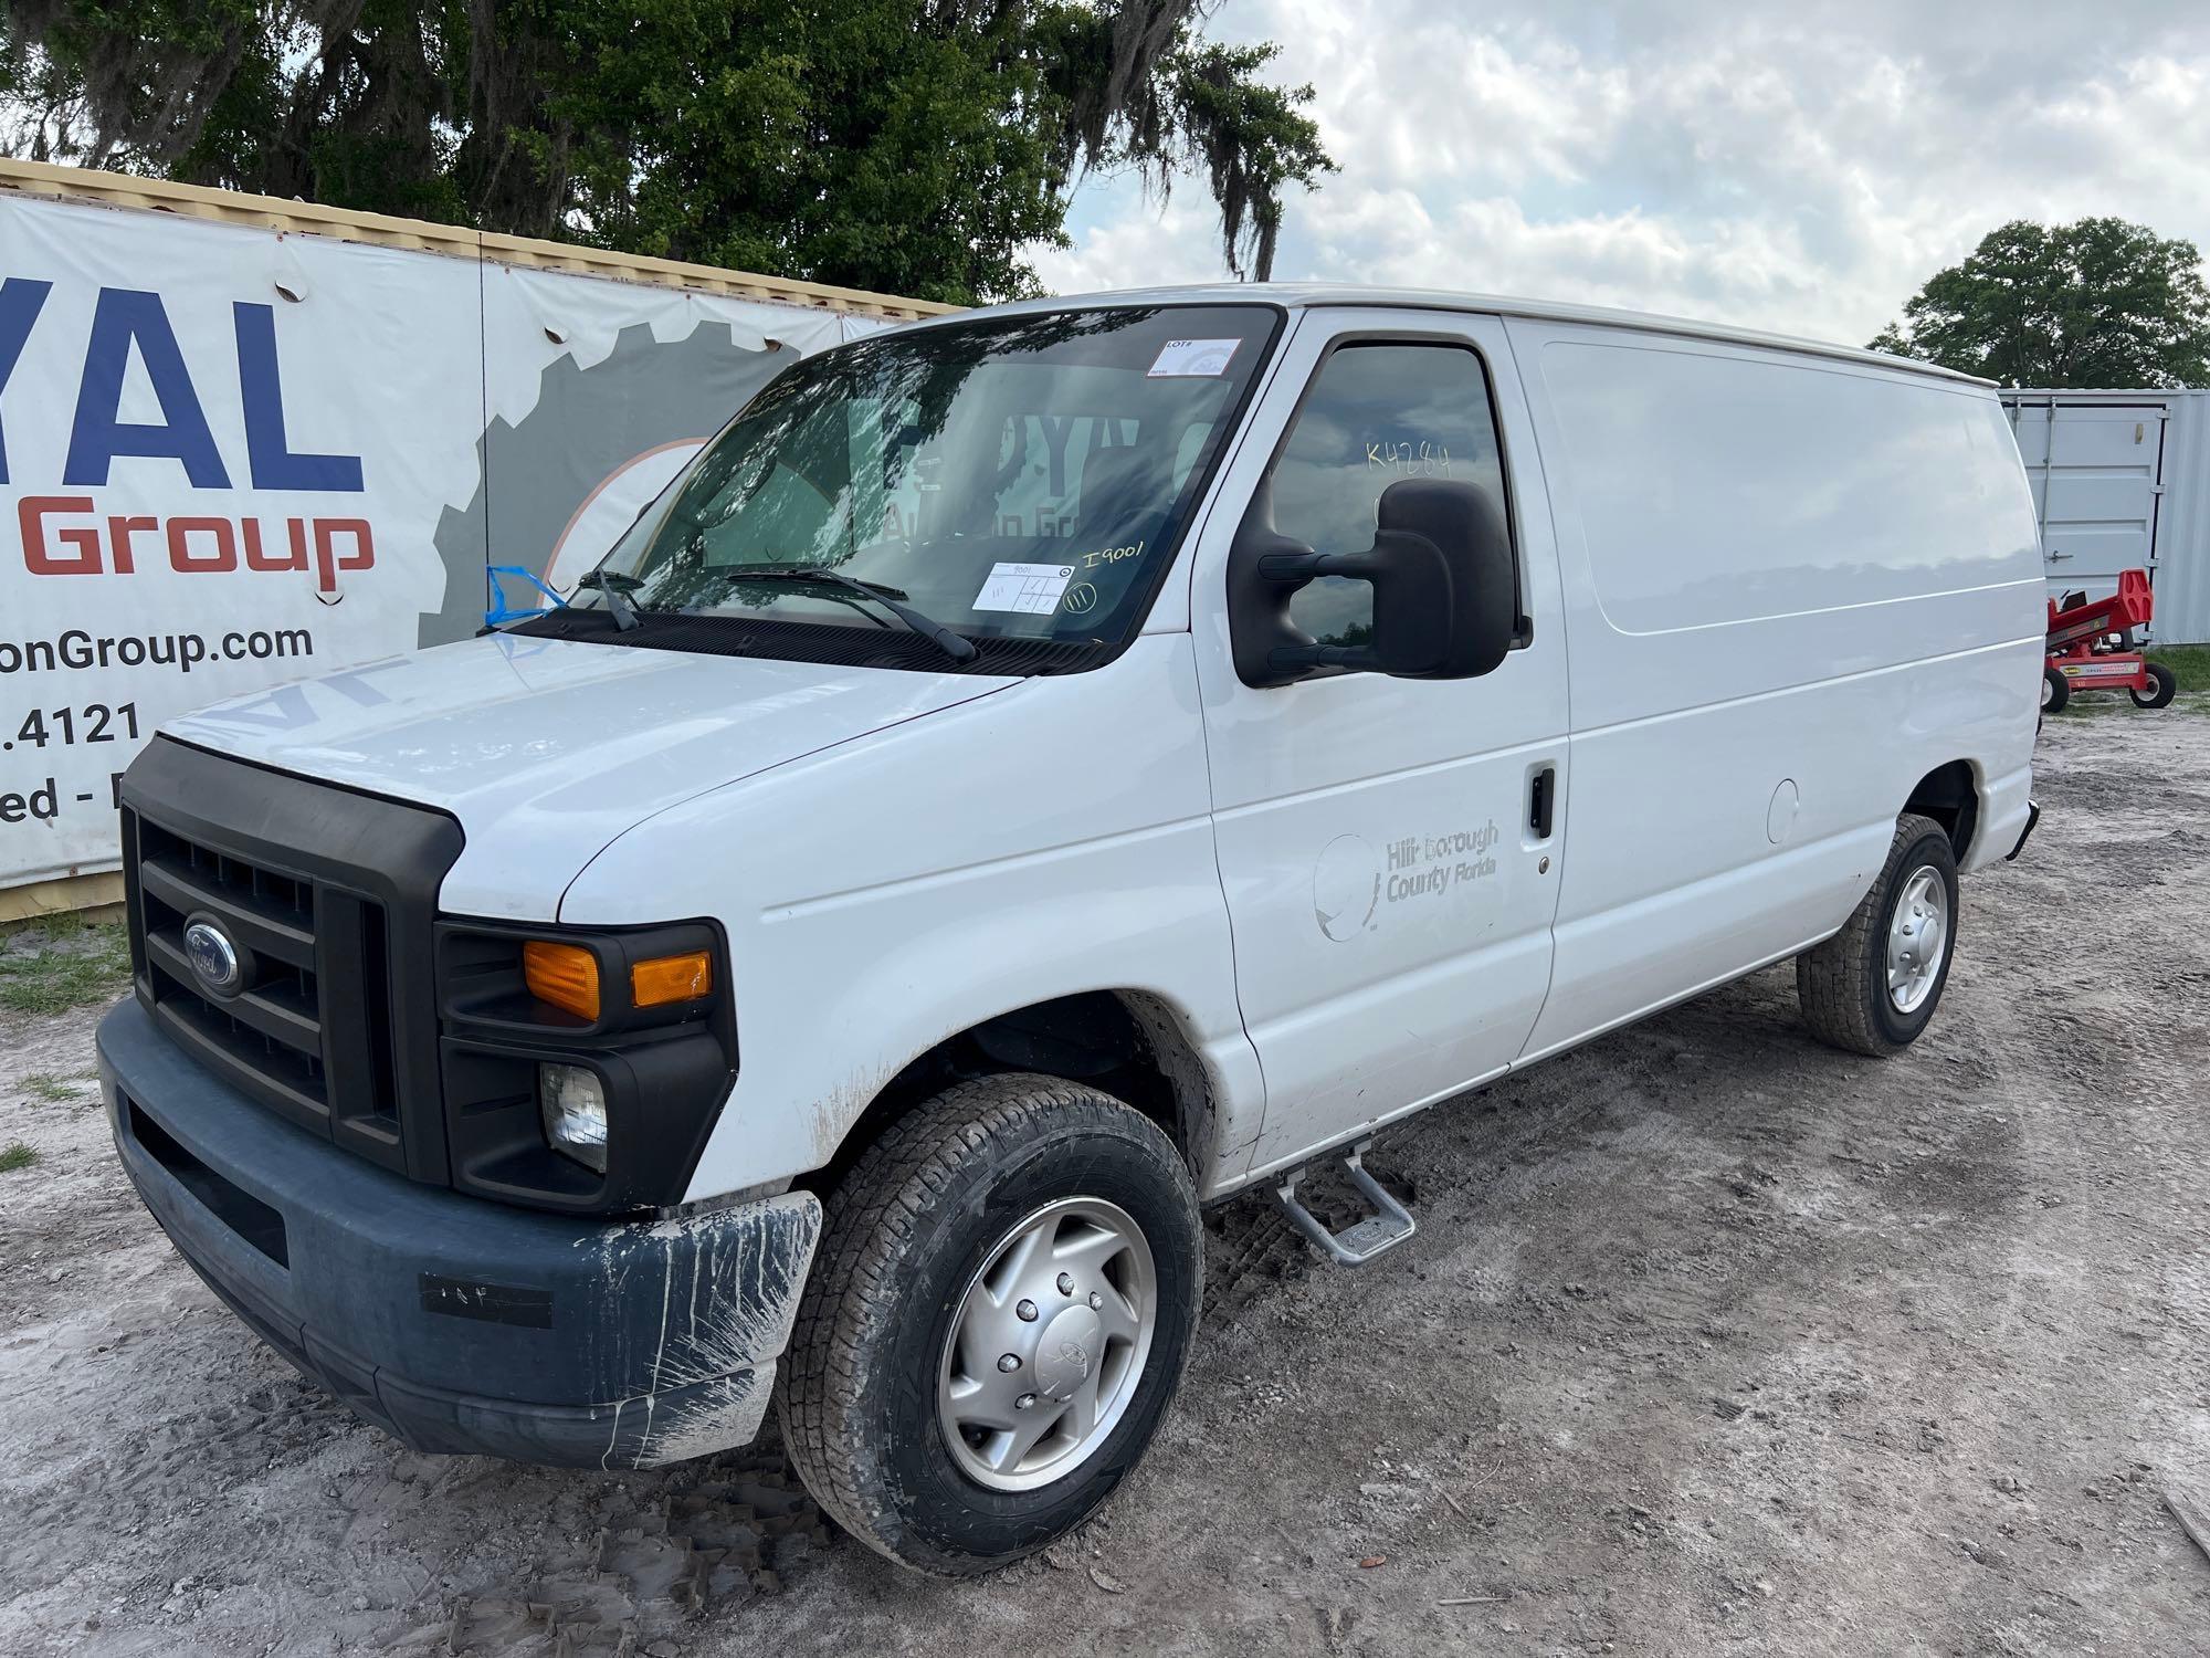
<svg viewBox="0 0 2210 1658">
<path fill-rule="evenodd" d="M 1353 340 L 1319 365 L 1273 469 L 1273 526 L 1317 553 L 1372 546 L 1381 491 L 1399 478 L 1481 484 L 1503 504 L 1490 380 L 1465 345 Z M 1291 621 L 1324 646 L 1372 639 L 1372 588 L 1322 577 Z"/>
</svg>

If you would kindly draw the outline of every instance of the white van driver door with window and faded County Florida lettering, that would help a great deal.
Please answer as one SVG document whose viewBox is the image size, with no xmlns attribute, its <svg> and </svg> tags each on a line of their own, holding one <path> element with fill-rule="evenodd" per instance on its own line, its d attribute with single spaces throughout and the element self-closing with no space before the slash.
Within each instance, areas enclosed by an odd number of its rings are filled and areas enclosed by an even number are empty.
<svg viewBox="0 0 2210 1658">
<path fill-rule="evenodd" d="M 1244 1026 L 1266 1074 L 1249 1174 L 1507 1070 L 1543 1010 L 1567 811 L 1556 548 L 1503 325 L 1313 309 L 1284 347 L 1222 502 L 1271 480 L 1273 528 L 1375 539 L 1381 491 L 1454 478 L 1507 513 L 1520 628 L 1478 679 L 1335 672 L 1244 685 L 1213 513 L 1193 566 L 1220 878 Z M 1313 581 L 1291 619 L 1361 643 L 1372 588 Z M 1233 1178 L 1233 1176 L 1231 1176 Z"/>
</svg>

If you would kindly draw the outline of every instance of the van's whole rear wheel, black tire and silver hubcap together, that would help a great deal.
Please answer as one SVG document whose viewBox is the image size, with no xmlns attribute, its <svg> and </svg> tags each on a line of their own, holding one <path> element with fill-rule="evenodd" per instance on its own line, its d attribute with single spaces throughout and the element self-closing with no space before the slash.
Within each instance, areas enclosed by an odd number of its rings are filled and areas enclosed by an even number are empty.
<svg viewBox="0 0 2210 1658">
<path fill-rule="evenodd" d="M 1907 1048 L 1940 1001 L 1956 955 L 1956 851 L 1932 818 L 1896 820 L 1887 862 L 1850 922 L 1797 957 L 1810 1032 L 1885 1059 Z"/>
</svg>

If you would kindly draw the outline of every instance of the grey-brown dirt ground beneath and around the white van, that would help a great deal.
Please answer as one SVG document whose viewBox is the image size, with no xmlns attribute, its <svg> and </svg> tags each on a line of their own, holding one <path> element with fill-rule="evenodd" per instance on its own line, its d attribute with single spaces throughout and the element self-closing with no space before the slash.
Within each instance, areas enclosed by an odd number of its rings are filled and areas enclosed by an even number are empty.
<svg viewBox="0 0 2210 1658">
<path fill-rule="evenodd" d="M 1421 1231 L 1361 1273 L 1216 1214 L 1160 1444 L 970 1585 L 774 1448 L 358 1426 L 130 1196 L 93 1012 L 0 1012 L 0 1651 L 2201 1654 L 2210 716 L 2051 721 L 2040 798 L 1905 1057 L 1768 970 L 1383 1141 Z"/>
</svg>

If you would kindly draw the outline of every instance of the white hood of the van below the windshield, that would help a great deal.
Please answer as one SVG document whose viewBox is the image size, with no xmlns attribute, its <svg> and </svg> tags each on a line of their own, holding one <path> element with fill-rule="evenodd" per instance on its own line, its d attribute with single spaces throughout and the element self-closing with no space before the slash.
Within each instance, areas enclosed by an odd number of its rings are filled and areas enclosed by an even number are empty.
<svg viewBox="0 0 2210 1658">
<path fill-rule="evenodd" d="M 555 920 L 568 882 L 652 814 L 1017 683 L 493 634 L 161 730 L 449 811 L 466 849 L 444 909 Z"/>
</svg>

